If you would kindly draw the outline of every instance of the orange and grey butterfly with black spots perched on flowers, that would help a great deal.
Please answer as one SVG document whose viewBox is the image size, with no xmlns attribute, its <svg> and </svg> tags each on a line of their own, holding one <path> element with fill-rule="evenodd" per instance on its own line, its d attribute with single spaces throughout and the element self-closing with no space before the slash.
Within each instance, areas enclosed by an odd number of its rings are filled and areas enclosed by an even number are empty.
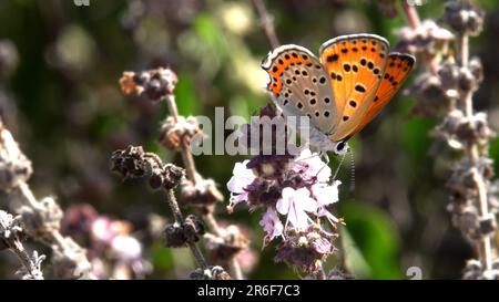
<svg viewBox="0 0 499 302">
<path fill-rule="evenodd" d="M 275 49 L 262 63 L 266 88 L 285 115 L 308 116 L 313 145 L 343 155 L 347 140 L 394 97 L 416 60 L 389 52 L 385 38 L 367 33 L 328 40 L 319 55 L 294 44 Z"/>
</svg>

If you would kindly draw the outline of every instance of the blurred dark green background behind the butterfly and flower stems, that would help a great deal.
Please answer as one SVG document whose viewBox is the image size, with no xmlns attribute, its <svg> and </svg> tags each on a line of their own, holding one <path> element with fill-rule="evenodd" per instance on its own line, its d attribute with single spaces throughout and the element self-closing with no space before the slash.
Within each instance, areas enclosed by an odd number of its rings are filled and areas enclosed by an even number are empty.
<svg viewBox="0 0 499 302">
<path fill-rule="evenodd" d="M 282 43 L 315 52 L 324 41 L 355 32 L 380 34 L 396 44 L 394 30 L 405 24 L 401 14 L 384 17 L 375 1 L 265 2 Z M 418 8 L 421 19 L 438 20 L 444 1 L 425 2 Z M 493 102 L 499 93 L 499 8 L 496 0 L 478 2 L 487 22 L 483 33 L 471 40 L 471 51 L 483 61 L 486 81 L 475 102 L 499 128 Z M 67 0 L 1 0 L 0 40 L 18 50 L 17 69 L 0 79 L 0 112 L 33 162 L 30 184 L 37 196 L 54 195 L 63 208 L 90 204 L 99 212 L 130 220 L 138 230 L 147 212 L 170 212 L 161 194 L 110 173 L 111 153 L 133 144 L 165 162 L 181 158 L 157 143 L 166 107 L 123 96 L 118 83 L 123 71 L 173 69 L 183 115 L 213 116 L 214 106 L 224 106 L 226 116 L 248 117 L 269 102 L 259 62 L 272 48 L 251 1 L 90 0 L 89 7 L 77 7 Z M 349 164 L 339 173 L 344 185 L 337 211 L 347 222 L 347 262 L 361 278 L 406 279 L 407 268 L 416 265 L 425 279 L 457 279 L 472 254 L 446 212 L 448 163 L 429 155 L 428 132 L 437 122 L 411 116 L 411 104 L 399 93 L 353 139 L 355 190 L 349 190 Z M 491 153 L 499 157 L 499 140 Z M 195 158 L 200 173 L 214 178 L 225 196 L 232 167 L 243 159 Z M 297 278 L 273 262 L 274 246 L 262 250 L 259 212 L 241 209 L 228 216 L 224 208 L 217 208 L 221 219 L 246 226 L 251 235 L 259 260 L 249 278 Z M 149 278 L 182 278 L 193 265 L 189 253 L 164 249 L 161 241 L 146 244 L 145 253 L 154 265 Z M 11 278 L 14 264 L 4 257 L 0 253 L 0 273 Z"/>
</svg>

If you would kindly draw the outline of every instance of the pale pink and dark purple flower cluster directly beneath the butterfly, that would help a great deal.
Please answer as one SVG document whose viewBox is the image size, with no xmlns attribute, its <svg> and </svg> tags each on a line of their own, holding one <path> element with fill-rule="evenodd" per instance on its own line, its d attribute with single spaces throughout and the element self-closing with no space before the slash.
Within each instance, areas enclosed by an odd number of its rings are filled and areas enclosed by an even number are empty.
<svg viewBox="0 0 499 302">
<path fill-rule="evenodd" d="M 272 111 L 267 106 L 262 114 Z M 333 253 L 332 240 L 337 237 L 334 230 L 342 221 L 330 212 L 330 206 L 338 201 L 340 183 L 330 178 L 327 164 L 307 148 L 298 156 L 257 155 L 235 164 L 227 183 L 227 209 L 232 211 L 241 202 L 262 209 L 264 244 L 282 238 L 276 261 L 313 274 Z"/>
</svg>

